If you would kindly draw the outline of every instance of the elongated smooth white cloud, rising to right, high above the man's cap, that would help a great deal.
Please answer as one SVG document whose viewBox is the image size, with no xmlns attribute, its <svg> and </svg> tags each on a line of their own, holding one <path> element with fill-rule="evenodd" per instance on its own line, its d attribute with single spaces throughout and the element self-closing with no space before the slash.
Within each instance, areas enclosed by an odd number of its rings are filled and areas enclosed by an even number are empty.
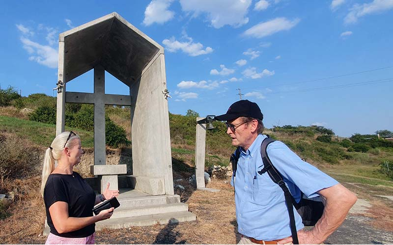
<svg viewBox="0 0 393 245">
<path fill-rule="evenodd" d="M 300 22 L 300 19 L 296 18 L 293 21 L 289 21 L 286 18 L 276 18 L 267 22 L 262 22 L 253 27 L 247 29 L 243 35 L 249 37 L 262 38 L 273 35 L 276 32 L 289 30 Z"/>
</svg>

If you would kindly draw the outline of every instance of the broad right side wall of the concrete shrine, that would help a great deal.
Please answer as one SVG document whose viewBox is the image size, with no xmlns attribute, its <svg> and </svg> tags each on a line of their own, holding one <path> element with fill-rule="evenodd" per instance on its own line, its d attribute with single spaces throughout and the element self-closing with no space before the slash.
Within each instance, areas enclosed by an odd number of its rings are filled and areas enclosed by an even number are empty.
<svg viewBox="0 0 393 245">
<path fill-rule="evenodd" d="M 133 175 L 164 178 L 173 195 L 164 54 L 158 54 L 130 87 Z"/>
</svg>

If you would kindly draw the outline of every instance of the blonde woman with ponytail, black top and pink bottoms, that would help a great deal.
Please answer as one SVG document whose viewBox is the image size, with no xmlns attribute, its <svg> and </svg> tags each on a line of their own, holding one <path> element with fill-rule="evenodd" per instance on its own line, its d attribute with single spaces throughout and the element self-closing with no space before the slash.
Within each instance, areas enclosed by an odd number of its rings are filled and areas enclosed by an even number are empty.
<svg viewBox="0 0 393 245">
<path fill-rule="evenodd" d="M 109 190 L 96 196 L 87 182 L 74 172 L 84 153 L 81 139 L 74 132 L 56 136 L 45 152 L 42 170 L 41 195 L 51 233 L 46 244 L 94 244 L 95 222 L 109 219 L 113 208 L 93 216 L 93 206 L 119 191 Z M 55 167 L 55 162 L 57 163 Z"/>
</svg>

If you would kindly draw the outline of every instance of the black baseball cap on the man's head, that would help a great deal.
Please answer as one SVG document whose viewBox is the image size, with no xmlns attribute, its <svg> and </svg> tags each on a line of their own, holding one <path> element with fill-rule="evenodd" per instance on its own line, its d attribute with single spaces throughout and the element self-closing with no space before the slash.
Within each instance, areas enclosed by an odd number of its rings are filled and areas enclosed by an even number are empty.
<svg viewBox="0 0 393 245">
<path fill-rule="evenodd" d="M 263 120 L 263 114 L 255 102 L 243 99 L 234 102 L 228 108 L 228 111 L 220 116 L 214 117 L 217 121 L 230 121 L 238 117 L 247 117 Z"/>
</svg>

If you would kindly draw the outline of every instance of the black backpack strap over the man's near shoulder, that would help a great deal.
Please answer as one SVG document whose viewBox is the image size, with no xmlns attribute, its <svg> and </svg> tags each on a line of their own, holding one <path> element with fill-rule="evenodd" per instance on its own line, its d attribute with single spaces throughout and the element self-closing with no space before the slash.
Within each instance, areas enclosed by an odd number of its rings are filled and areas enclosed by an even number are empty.
<svg viewBox="0 0 393 245">
<path fill-rule="evenodd" d="M 285 182 L 282 179 L 281 173 L 273 166 L 272 161 L 270 161 L 269 156 L 267 154 L 267 147 L 269 146 L 270 143 L 274 141 L 275 140 L 271 138 L 266 138 L 262 141 L 261 157 L 264 167 L 261 171 L 258 171 L 258 173 L 263 174 L 265 172 L 268 172 L 273 182 L 278 184 L 281 187 L 282 191 L 284 192 L 285 204 L 286 204 L 286 208 L 288 209 L 288 215 L 289 215 L 289 224 L 291 226 L 293 244 L 299 244 L 297 230 L 296 230 L 296 223 L 295 223 L 295 215 L 293 213 L 293 202 L 292 202 L 293 196 L 289 192 L 288 187 L 286 187 Z"/>
</svg>

